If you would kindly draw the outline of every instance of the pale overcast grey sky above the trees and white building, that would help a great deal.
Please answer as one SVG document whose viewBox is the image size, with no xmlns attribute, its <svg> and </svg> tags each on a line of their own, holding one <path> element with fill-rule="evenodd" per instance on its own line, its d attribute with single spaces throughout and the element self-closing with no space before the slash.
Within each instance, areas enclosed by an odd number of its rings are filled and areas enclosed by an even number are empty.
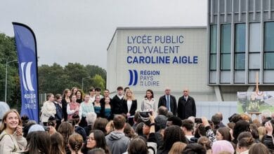
<svg viewBox="0 0 274 154">
<path fill-rule="evenodd" d="M 207 0 L 1 0 L 0 33 L 14 36 L 11 22 L 34 31 L 39 65 L 106 69 L 117 27 L 206 26 Z"/>
</svg>

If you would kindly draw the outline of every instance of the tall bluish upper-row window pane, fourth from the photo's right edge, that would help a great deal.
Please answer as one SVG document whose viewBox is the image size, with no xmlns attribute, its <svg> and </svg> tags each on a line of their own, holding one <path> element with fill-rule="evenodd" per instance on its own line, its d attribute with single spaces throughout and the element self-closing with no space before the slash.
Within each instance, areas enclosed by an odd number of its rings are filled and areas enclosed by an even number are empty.
<svg viewBox="0 0 274 154">
<path fill-rule="evenodd" d="M 230 53 L 231 25 L 221 25 L 221 53 Z"/>
</svg>

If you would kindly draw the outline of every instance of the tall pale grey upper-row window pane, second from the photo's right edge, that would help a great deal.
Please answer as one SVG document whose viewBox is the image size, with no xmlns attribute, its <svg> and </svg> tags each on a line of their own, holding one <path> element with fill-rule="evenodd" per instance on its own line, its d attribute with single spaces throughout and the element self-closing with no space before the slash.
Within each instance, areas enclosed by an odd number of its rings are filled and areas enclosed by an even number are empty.
<svg viewBox="0 0 274 154">
<path fill-rule="evenodd" d="M 261 24 L 249 24 L 249 52 L 261 51 Z"/>
</svg>

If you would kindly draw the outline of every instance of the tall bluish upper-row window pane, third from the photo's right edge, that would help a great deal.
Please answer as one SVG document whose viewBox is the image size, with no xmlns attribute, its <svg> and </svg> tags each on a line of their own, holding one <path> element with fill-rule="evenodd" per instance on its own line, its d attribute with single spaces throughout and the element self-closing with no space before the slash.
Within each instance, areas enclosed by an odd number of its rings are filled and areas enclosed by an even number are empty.
<svg viewBox="0 0 274 154">
<path fill-rule="evenodd" d="M 245 52 L 245 24 L 235 25 L 235 52 Z"/>
</svg>

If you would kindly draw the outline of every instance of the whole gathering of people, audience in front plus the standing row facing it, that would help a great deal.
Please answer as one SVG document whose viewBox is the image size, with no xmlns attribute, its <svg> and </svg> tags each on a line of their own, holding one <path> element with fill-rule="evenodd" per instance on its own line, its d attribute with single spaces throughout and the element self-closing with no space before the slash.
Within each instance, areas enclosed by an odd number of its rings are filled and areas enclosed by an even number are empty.
<svg viewBox="0 0 274 154">
<path fill-rule="evenodd" d="M 233 114 L 223 124 L 222 113 L 211 120 L 195 118 L 195 99 L 189 90 L 183 96 L 164 95 L 155 101 L 152 90 L 145 92 L 141 110 L 129 87 L 100 88 L 84 94 L 77 87 L 62 94 L 48 94 L 36 123 L 11 109 L 0 126 L 0 153 L 273 153 L 274 115 L 261 120 L 247 114 Z"/>
</svg>

